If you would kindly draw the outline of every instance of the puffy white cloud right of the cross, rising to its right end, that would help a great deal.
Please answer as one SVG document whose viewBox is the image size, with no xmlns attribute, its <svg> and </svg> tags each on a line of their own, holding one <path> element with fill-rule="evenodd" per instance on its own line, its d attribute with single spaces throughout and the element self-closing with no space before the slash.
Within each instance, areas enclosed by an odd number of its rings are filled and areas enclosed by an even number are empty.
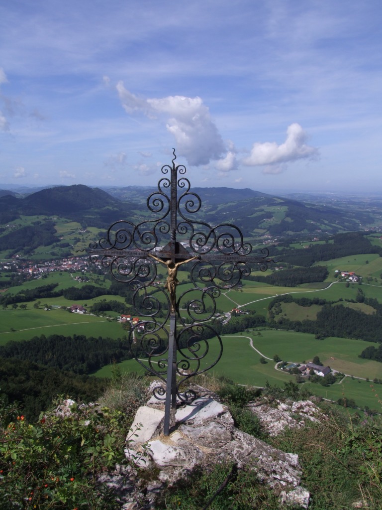
<svg viewBox="0 0 382 510">
<path fill-rule="evenodd" d="M 243 165 L 262 166 L 288 163 L 299 159 L 312 159 L 318 156 L 318 149 L 306 144 L 307 134 L 296 122 L 288 126 L 284 143 L 254 143 L 251 155 L 242 160 Z M 280 173 L 279 171 L 267 173 Z"/>
</svg>

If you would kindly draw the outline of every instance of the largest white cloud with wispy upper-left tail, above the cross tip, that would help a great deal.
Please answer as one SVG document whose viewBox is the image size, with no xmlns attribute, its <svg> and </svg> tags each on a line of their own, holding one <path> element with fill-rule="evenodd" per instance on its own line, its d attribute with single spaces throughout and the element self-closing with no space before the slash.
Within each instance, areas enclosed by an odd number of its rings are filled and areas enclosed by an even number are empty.
<svg viewBox="0 0 382 510">
<path fill-rule="evenodd" d="M 117 91 L 129 115 L 141 112 L 151 119 L 168 117 L 166 127 L 176 140 L 177 152 L 190 165 L 207 165 L 226 157 L 223 139 L 200 97 L 138 97 L 128 91 L 123 82 L 117 84 Z"/>
</svg>

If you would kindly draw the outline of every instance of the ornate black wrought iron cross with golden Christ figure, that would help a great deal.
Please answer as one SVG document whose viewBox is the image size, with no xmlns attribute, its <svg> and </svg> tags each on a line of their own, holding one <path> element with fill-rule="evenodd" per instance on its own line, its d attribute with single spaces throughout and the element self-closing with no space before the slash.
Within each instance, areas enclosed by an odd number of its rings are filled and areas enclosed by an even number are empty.
<svg viewBox="0 0 382 510">
<path fill-rule="evenodd" d="M 133 358 L 162 381 L 153 394 L 166 402 L 165 436 L 170 433 L 177 397 L 180 401 L 196 397 L 193 390 L 182 393 L 180 387 L 190 377 L 212 368 L 222 356 L 222 339 L 209 323 L 221 290 L 231 289 L 242 276 L 250 275 L 249 264 L 260 265 L 265 271 L 267 263 L 274 262 L 268 259 L 266 248 L 261 254 L 253 254 L 252 245 L 244 241 L 237 226 L 211 226 L 189 216 L 200 210 L 201 199 L 190 191 L 190 183 L 184 177 L 186 168 L 175 165 L 175 149 L 173 154 L 172 166 L 161 169 L 167 176 L 159 180 L 158 190 L 147 198 L 154 218 L 138 224 L 119 220 L 108 228 L 104 238 L 89 247 L 92 262 L 100 260 L 117 281 L 129 284 L 135 310 L 140 318 L 145 317 L 131 325 L 129 347 Z M 165 246 L 159 246 L 169 237 Z M 178 268 L 191 262 L 192 285 L 185 286 L 186 290 L 177 296 Z M 165 286 L 156 282 L 156 263 L 166 266 Z M 217 348 L 206 367 L 203 363 L 210 354 L 211 342 Z"/>
</svg>

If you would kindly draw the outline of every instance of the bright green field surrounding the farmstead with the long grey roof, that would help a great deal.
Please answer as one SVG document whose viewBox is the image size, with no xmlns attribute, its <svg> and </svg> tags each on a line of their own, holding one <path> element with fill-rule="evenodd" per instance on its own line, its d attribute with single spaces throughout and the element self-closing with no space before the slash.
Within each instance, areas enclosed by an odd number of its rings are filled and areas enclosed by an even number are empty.
<svg viewBox="0 0 382 510">
<path fill-rule="evenodd" d="M 311 361 L 315 355 L 318 355 L 324 365 L 330 365 L 335 370 L 345 372 L 346 369 L 351 369 L 350 375 L 354 377 L 369 377 L 371 381 L 374 377 L 382 377 L 380 363 L 358 358 L 361 350 L 368 345 L 375 345 L 371 342 L 334 337 L 322 341 L 316 340 L 313 335 L 292 331 L 261 330 L 260 334 L 259 337 L 257 331 L 252 331 L 250 334 L 223 336 L 223 355 L 219 363 L 213 367 L 212 372 L 218 376 L 228 377 L 237 384 L 264 386 L 268 381 L 271 385 L 283 386 L 284 382 L 294 381 L 294 376 L 275 370 L 275 363 L 272 360 L 267 360 L 266 364 L 260 363 L 261 354 L 266 358 L 273 358 L 275 354 L 279 354 L 285 361 L 300 363 Z M 250 346 L 250 338 L 261 354 Z M 210 351 L 212 359 L 217 352 L 216 342 L 213 340 L 210 343 Z M 118 366 L 122 372 L 145 373 L 135 360 L 124 361 Z M 202 362 L 202 367 L 205 366 L 207 363 Z M 110 377 L 111 374 L 111 367 L 107 366 L 93 375 Z M 346 398 L 355 400 L 358 405 L 368 405 L 370 409 L 376 407 L 377 399 L 370 388 L 372 382 L 366 380 L 345 377 L 341 384 L 330 387 L 310 382 L 304 384 L 311 388 L 312 393 L 324 398 L 338 400 L 345 395 Z M 378 392 L 378 386 L 375 385 L 376 392 Z M 380 388 L 382 395 L 382 386 Z"/>
</svg>

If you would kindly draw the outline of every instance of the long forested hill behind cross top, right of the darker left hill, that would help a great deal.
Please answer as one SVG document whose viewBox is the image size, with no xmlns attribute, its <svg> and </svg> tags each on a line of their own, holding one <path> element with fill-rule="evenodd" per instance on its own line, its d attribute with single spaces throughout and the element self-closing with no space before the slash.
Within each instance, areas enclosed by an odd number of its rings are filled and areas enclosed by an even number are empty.
<svg viewBox="0 0 382 510">
<path fill-rule="evenodd" d="M 110 188 L 106 191 L 120 199 L 130 199 L 146 207 L 146 197 L 156 188 L 130 186 Z M 263 231 L 273 236 L 295 233 L 356 231 L 360 225 L 372 225 L 373 216 L 354 207 L 336 208 L 328 203 L 309 203 L 290 198 L 269 195 L 249 188 L 191 188 L 202 201 L 201 213 L 210 224 L 233 222 L 244 235 Z M 342 202 L 341 202 L 342 204 Z"/>
</svg>

